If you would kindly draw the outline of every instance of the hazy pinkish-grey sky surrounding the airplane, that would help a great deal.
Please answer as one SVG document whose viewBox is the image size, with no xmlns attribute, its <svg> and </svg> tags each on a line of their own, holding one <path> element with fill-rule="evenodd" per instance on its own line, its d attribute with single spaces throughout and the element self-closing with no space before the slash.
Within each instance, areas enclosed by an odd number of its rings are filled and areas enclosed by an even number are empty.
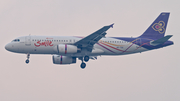
<svg viewBox="0 0 180 101">
<path fill-rule="evenodd" d="M 179 101 L 178 0 L 0 0 L 0 101 Z M 107 36 L 136 37 L 163 11 L 173 46 L 126 56 L 54 65 L 51 55 L 11 53 L 19 36 L 87 36 L 115 23 Z"/>
</svg>

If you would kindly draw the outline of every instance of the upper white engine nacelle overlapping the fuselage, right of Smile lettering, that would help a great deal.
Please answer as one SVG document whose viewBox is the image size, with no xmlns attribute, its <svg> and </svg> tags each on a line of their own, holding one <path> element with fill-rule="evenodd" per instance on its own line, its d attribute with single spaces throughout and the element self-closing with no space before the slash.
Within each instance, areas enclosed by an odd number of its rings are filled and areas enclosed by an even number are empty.
<svg viewBox="0 0 180 101">
<path fill-rule="evenodd" d="M 59 54 L 72 54 L 77 53 L 78 48 L 74 45 L 59 44 L 54 47 L 54 51 Z"/>
</svg>

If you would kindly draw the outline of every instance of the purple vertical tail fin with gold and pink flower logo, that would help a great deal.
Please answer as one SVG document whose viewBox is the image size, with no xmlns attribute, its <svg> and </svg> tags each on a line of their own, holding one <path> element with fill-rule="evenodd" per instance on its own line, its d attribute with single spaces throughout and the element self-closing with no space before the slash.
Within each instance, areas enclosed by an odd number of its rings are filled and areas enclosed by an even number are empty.
<svg viewBox="0 0 180 101">
<path fill-rule="evenodd" d="M 140 38 L 159 39 L 164 37 L 169 14 L 170 13 L 162 12 Z"/>
</svg>

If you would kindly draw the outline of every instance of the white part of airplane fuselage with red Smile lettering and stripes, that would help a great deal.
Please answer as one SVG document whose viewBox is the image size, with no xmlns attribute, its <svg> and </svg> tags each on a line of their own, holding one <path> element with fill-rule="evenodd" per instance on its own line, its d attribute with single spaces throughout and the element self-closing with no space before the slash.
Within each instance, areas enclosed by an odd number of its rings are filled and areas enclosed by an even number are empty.
<svg viewBox="0 0 180 101">
<path fill-rule="evenodd" d="M 55 51 L 59 44 L 74 44 L 82 39 L 76 36 L 23 36 L 17 38 L 19 41 L 12 41 L 6 45 L 6 49 L 16 53 L 29 54 L 58 54 Z M 102 38 L 93 47 L 92 52 L 81 51 L 81 53 L 58 54 L 65 56 L 81 57 L 84 55 L 124 55 L 147 51 L 143 47 L 139 47 L 132 42 L 119 40 L 111 37 Z"/>
</svg>

